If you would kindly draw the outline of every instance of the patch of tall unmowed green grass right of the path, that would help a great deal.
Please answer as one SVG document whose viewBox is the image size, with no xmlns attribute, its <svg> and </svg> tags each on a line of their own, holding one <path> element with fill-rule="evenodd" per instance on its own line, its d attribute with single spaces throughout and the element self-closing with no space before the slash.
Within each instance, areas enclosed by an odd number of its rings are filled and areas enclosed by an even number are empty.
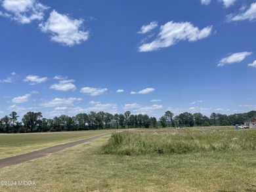
<svg viewBox="0 0 256 192">
<path fill-rule="evenodd" d="M 182 130 L 139 130 L 112 134 L 102 147 L 104 154 L 165 155 L 202 151 L 256 149 L 256 130 L 233 128 L 185 128 Z"/>
</svg>

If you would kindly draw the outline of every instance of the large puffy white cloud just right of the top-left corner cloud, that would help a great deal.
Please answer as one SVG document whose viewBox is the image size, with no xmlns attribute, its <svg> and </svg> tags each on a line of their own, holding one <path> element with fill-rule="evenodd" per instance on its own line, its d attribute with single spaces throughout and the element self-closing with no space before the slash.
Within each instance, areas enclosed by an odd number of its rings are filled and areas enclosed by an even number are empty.
<svg viewBox="0 0 256 192">
<path fill-rule="evenodd" d="M 56 10 L 51 12 L 47 22 L 40 24 L 39 28 L 45 33 L 51 33 L 51 40 L 62 45 L 73 46 L 87 41 L 89 31 L 81 31 L 83 20 L 69 18 L 65 14 L 59 14 Z"/>
</svg>

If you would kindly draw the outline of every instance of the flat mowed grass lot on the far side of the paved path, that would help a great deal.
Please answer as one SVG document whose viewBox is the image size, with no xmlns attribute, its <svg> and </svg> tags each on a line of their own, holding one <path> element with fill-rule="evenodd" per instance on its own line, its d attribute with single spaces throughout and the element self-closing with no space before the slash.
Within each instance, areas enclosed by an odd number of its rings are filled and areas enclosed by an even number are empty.
<svg viewBox="0 0 256 192">
<path fill-rule="evenodd" d="M 0 134 L 0 159 L 20 155 L 58 144 L 90 138 L 113 130 Z"/>
</svg>

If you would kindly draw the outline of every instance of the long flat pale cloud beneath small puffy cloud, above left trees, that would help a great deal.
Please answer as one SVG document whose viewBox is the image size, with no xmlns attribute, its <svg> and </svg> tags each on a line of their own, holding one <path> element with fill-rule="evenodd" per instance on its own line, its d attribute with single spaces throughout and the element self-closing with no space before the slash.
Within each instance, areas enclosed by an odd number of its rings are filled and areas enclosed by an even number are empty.
<svg viewBox="0 0 256 192">
<path fill-rule="evenodd" d="M 55 98 L 50 102 L 39 104 L 43 107 L 74 106 L 74 102 L 80 102 L 81 98 Z"/>
</svg>

